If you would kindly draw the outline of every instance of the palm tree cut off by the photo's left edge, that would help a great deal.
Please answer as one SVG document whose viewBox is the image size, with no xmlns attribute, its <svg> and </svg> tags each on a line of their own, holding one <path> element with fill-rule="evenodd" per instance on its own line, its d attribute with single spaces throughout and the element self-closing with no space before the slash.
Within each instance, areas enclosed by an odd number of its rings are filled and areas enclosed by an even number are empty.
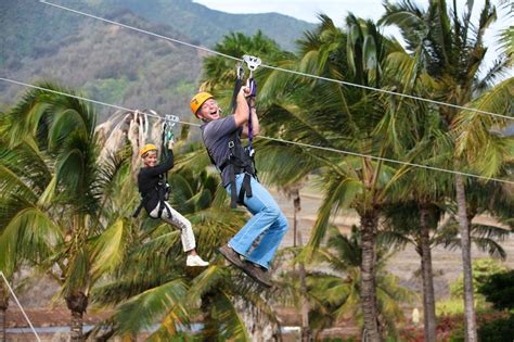
<svg viewBox="0 0 514 342">
<path fill-rule="evenodd" d="M 26 136 L 10 147 L 12 127 L 8 114 L 0 116 L 0 270 L 8 281 L 23 266 L 33 267 L 53 253 L 62 231 L 47 213 L 46 193 L 52 188 L 53 168 L 48 155 Z M 26 167 L 30 165 L 30 167 Z M 0 286 L 0 340 L 5 341 L 9 292 Z"/>
</svg>

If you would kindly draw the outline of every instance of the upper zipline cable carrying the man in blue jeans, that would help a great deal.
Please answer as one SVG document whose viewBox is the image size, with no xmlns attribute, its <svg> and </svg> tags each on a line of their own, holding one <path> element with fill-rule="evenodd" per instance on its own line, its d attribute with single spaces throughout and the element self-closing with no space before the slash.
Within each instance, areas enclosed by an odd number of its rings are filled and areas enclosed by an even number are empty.
<svg viewBox="0 0 514 342">
<path fill-rule="evenodd" d="M 189 42 L 185 42 L 185 41 L 182 41 L 182 40 L 179 40 L 179 39 L 170 38 L 170 37 L 159 35 L 159 34 L 156 34 L 156 33 L 153 33 L 153 31 L 150 31 L 150 30 L 145 30 L 145 29 L 142 29 L 142 28 L 138 28 L 138 27 L 133 27 L 133 26 L 130 26 L 130 25 L 121 24 L 121 23 L 118 23 L 118 22 L 115 22 L 115 21 L 111 21 L 111 20 L 101 17 L 101 16 L 97 16 L 97 15 L 93 15 L 93 14 L 89 14 L 89 13 L 86 13 L 86 12 L 74 10 L 74 9 L 70 9 L 70 8 L 67 8 L 67 7 L 64 7 L 64 5 L 60 5 L 60 4 L 56 4 L 56 3 L 53 3 L 53 2 L 49 2 L 49 1 L 46 1 L 46 0 L 39 0 L 39 2 L 42 3 L 42 4 L 48 4 L 48 5 L 64 10 L 64 11 L 68 11 L 68 12 L 75 13 L 75 14 L 85 15 L 85 16 L 88 16 L 88 17 L 91 17 L 91 18 L 94 18 L 94 20 L 98 20 L 98 21 L 108 23 L 108 24 L 113 24 L 113 25 L 117 25 L 117 26 L 120 26 L 120 27 L 124 27 L 124 28 L 132 29 L 132 30 L 136 30 L 136 31 L 141 33 L 141 34 L 145 34 L 145 35 L 150 35 L 150 36 L 153 36 L 153 37 L 166 39 L 168 41 L 172 41 L 172 42 L 183 45 L 183 46 L 187 46 L 187 47 L 190 47 L 190 48 L 194 48 L 194 49 L 198 49 L 198 50 L 202 50 L 202 51 L 205 51 L 205 52 L 209 52 L 211 54 L 217 54 L 217 55 L 220 55 L 220 56 L 224 56 L 227 59 L 231 59 L 231 60 L 234 60 L 234 61 L 240 61 L 240 62 L 243 61 L 242 59 L 235 58 L 235 56 L 230 55 L 230 54 L 226 54 L 226 53 L 222 53 L 222 52 L 219 52 L 219 51 L 215 51 L 215 50 L 202 47 L 202 46 L 189 43 Z M 359 84 L 352 84 L 352 83 L 345 81 L 345 80 L 338 80 L 338 79 L 334 79 L 334 78 L 330 78 L 330 77 L 312 75 L 312 74 L 297 72 L 297 71 L 293 71 L 293 69 L 288 69 L 288 68 L 279 67 L 279 66 L 267 65 L 267 64 L 261 64 L 260 66 L 269 68 L 269 69 L 274 69 L 274 71 L 279 71 L 279 72 L 285 72 L 285 73 L 298 75 L 298 76 L 311 77 L 311 78 L 316 78 L 316 79 L 320 79 L 320 80 L 332 81 L 332 83 L 336 83 L 336 84 L 344 85 L 344 86 L 350 86 L 350 87 L 357 87 L 357 88 L 378 91 L 378 92 L 383 92 L 383 93 L 387 93 L 387 94 L 391 94 L 391 96 L 398 96 L 398 97 L 403 97 L 403 98 L 408 98 L 408 99 L 412 99 L 412 100 L 424 101 L 424 102 L 428 102 L 428 103 L 433 103 L 433 104 L 437 104 L 437 105 L 449 106 L 449 107 L 464 110 L 464 111 L 468 111 L 468 112 L 476 112 L 476 113 L 479 113 L 479 114 L 489 115 L 489 116 L 493 116 L 493 117 L 499 117 L 499 118 L 504 118 L 504 119 L 514 119 L 513 116 L 509 116 L 509 115 L 487 112 L 487 111 L 483 111 L 483 110 L 478 110 L 478 109 L 466 107 L 466 106 L 463 106 L 463 105 L 446 103 L 446 102 L 436 101 L 436 100 L 429 100 L 429 99 L 420 98 L 420 97 L 416 97 L 416 96 L 410 96 L 410 94 L 407 94 L 407 93 L 396 92 L 396 91 L 391 91 L 391 90 L 385 90 L 385 89 L 363 86 L 363 85 L 359 85 Z"/>
</svg>

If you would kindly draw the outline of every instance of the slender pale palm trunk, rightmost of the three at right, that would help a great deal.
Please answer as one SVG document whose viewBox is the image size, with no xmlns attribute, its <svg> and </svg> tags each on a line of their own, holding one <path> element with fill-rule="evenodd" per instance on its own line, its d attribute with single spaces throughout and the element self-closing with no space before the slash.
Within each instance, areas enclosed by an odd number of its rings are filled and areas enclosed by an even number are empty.
<svg viewBox="0 0 514 342">
<path fill-rule="evenodd" d="M 473 293 L 473 270 L 471 258 L 470 223 L 467 220 L 464 180 L 455 176 L 457 204 L 459 206 L 459 230 L 461 233 L 462 268 L 464 274 L 464 313 L 466 342 L 478 341 L 476 334 L 475 302 Z"/>
</svg>

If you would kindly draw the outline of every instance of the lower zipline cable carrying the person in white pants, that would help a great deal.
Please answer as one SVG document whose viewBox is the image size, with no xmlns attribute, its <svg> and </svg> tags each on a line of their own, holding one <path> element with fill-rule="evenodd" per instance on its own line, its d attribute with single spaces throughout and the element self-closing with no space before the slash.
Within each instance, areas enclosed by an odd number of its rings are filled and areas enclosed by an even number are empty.
<svg viewBox="0 0 514 342">
<path fill-rule="evenodd" d="M 42 91 L 48 91 L 48 92 L 52 92 L 52 93 L 56 93 L 56 94 L 61 94 L 61 96 L 82 100 L 82 101 L 90 102 L 90 103 L 95 103 L 95 104 L 100 104 L 100 105 L 104 105 L 104 106 L 110 106 L 110 107 L 126 111 L 126 112 L 132 112 L 132 113 L 138 112 L 136 110 L 130 110 L 130 109 L 127 109 L 127 107 L 124 107 L 124 106 L 120 106 L 120 105 L 111 104 L 111 103 L 106 103 L 106 102 L 102 102 L 102 101 L 97 101 L 97 100 L 92 100 L 92 99 L 88 99 L 88 98 L 83 98 L 83 97 L 79 97 L 79 96 L 75 96 L 75 94 L 70 94 L 70 93 L 67 93 L 67 92 L 62 92 L 62 91 L 57 91 L 57 90 L 53 90 L 53 89 L 48 89 L 48 88 L 26 84 L 26 83 L 10 79 L 10 78 L 0 77 L 0 80 L 11 83 L 11 84 L 15 84 L 15 85 L 18 85 L 18 86 L 24 86 L 24 87 L 28 87 L 28 88 L 33 88 L 33 89 L 38 89 L 38 90 L 42 90 Z M 159 115 L 154 115 L 154 114 L 151 114 L 151 113 L 145 113 L 145 115 L 152 116 L 152 117 L 157 117 L 159 119 L 166 121 L 166 117 L 162 117 Z M 194 126 L 194 127 L 200 127 L 201 126 L 200 124 L 182 122 L 182 121 L 178 121 L 178 122 L 174 121 L 174 123 L 180 123 L 182 125 L 189 125 L 189 126 Z M 484 179 L 484 180 L 492 180 L 492 181 L 514 185 L 514 181 L 500 179 L 500 178 L 486 177 L 486 176 L 480 176 L 480 175 L 470 174 L 470 173 L 463 173 L 463 172 L 453 170 L 453 169 L 440 168 L 440 167 L 436 167 L 436 166 L 429 166 L 429 165 L 423 165 L 423 164 L 416 164 L 416 163 L 410 163 L 410 162 L 402 162 L 402 161 L 393 160 L 393 159 L 386 159 L 386 157 L 381 157 L 381 156 L 375 156 L 375 155 L 370 155 L 370 154 L 364 154 L 364 153 L 346 151 L 346 150 L 337 150 L 337 149 L 326 148 L 326 147 L 319 147 L 319 145 L 314 145 L 314 144 L 297 142 L 297 141 L 290 141 L 290 140 L 279 139 L 279 138 L 272 138 L 272 137 L 266 137 L 266 136 L 258 136 L 258 137 L 262 138 L 262 139 L 266 139 L 266 140 L 271 140 L 271 141 L 277 141 L 277 142 L 287 143 L 287 144 L 295 144 L 295 145 L 299 145 L 299 147 L 304 147 L 304 148 L 330 151 L 330 152 L 335 152 L 335 153 L 340 153 L 340 154 L 346 154 L 346 155 L 369 157 L 369 159 L 372 159 L 372 160 L 375 160 L 375 161 L 389 162 L 389 163 L 401 164 L 401 165 L 407 165 L 407 166 L 412 166 L 412 167 L 425 168 L 425 169 L 429 169 L 429 170 L 444 172 L 444 173 L 453 174 L 453 175 L 462 175 L 462 176 L 467 176 L 467 177 L 472 177 L 472 178 L 478 178 L 478 179 Z"/>
</svg>

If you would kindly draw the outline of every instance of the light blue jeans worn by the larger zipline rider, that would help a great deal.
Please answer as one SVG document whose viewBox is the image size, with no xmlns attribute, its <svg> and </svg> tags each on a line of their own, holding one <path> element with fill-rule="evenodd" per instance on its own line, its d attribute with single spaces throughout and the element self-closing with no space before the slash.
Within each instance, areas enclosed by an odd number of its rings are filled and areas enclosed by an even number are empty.
<svg viewBox="0 0 514 342">
<path fill-rule="evenodd" d="M 237 193 L 243 178 L 244 174 L 235 176 Z M 230 185 L 226 189 L 230 195 Z M 287 219 L 268 190 L 254 178 L 252 178 L 252 198 L 245 195 L 244 205 L 254 216 L 229 241 L 229 245 L 239 254 L 245 255 L 247 261 L 268 269 L 287 231 Z M 253 242 L 260 236 L 259 244 L 250 251 Z"/>
</svg>

